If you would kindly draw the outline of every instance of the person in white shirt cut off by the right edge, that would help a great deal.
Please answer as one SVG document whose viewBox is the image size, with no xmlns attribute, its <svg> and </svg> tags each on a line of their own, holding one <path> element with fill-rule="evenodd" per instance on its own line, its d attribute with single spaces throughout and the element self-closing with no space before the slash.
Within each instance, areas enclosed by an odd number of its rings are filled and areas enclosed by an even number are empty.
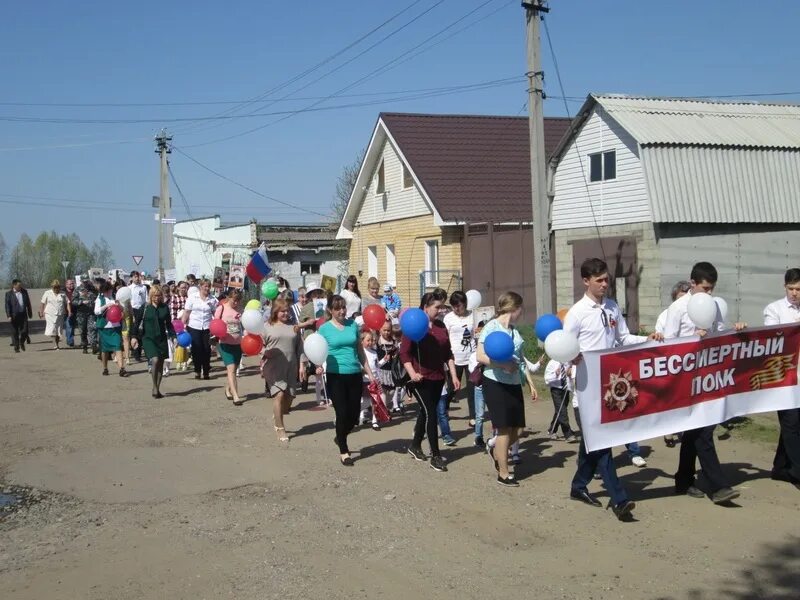
<svg viewBox="0 0 800 600">
<path fill-rule="evenodd" d="M 764 309 L 764 325 L 800 322 L 800 269 L 789 269 L 783 278 L 786 296 Z M 772 478 L 800 489 L 800 408 L 778 411 L 781 435 L 772 462 Z"/>
</svg>

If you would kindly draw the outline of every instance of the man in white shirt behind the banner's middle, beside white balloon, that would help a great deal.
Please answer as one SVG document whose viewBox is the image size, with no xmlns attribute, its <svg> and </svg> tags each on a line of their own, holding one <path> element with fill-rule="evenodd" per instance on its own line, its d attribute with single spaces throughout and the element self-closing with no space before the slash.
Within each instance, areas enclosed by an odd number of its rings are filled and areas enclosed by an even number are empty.
<svg viewBox="0 0 800 600">
<path fill-rule="evenodd" d="M 670 340 L 680 337 L 699 335 L 703 337 L 709 331 L 698 329 L 689 318 L 689 301 L 694 294 L 705 292 L 711 294 L 717 285 L 717 269 L 709 262 L 699 262 L 692 267 L 689 277 L 692 287 L 689 293 L 673 302 L 667 309 L 667 318 L 664 323 L 664 339 Z M 743 329 L 744 323 L 737 323 L 737 331 Z M 722 331 L 722 315 L 717 309 L 717 319 L 710 331 Z M 707 425 L 698 429 L 683 432 L 681 453 L 678 462 L 678 471 L 675 473 L 675 493 L 685 494 L 692 498 L 703 498 L 705 494 L 695 487 L 696 461 L 700 461 L 700 468 L 710 485 L 711 501 L 715 504 L 730 502 L 739 497 L 739 492 L 733 490 L 722 472 L 717 449 L 714 446 L 714 429 L 716 425 Z"/>
</svg>

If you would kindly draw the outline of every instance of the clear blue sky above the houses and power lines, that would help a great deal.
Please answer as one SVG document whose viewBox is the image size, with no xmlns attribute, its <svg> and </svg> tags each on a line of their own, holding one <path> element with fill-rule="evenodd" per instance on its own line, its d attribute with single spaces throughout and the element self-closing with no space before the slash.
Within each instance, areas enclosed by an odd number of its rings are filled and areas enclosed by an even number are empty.
<svg viewBox="0 0 800 600">
<path fill-rule="evenodd" d="M 800 2 L 795 0 L 550 4 L 547 22 L 569 97 L 588 92 L 719 96 L 800 91 Z M 76 232 L 87 245 L 102 235 L 119 266 L 131 268 L 130 256 L 143 254 L 142 266 L 154 267 L 155 222 L 149 204 L 158 194 L 159 180 L 152 137 L 162 124 L 174 133 L 176 146 L 209 167 L 264 194 L 327 213 L 337 176 L 368 142 L 380 111 L 525 114 L 527 96 L 521 79 L 526 71 L 525 31 L 518 0 L 16 3 L 0 22 L 0 102 L 30 104 L 246 100 L 302 74 L 409 6 L 353 48 L 269 95 L 271 100 L 290 99 L 245 106 L 1 105 L 4 119 L 155 120 L 0 120 L 0 232 L 6 243 L 13 246 L 22 232 L 36 235 L 50 229 Z M 420 50 L 474 25 L 317 105 L 362 106 L 304 112 L 227 141 L 215 140 L 279 117 L 167 121 L 232 109 L 241 115 L 308 107 L 473 10 Z M 364 55 L 299 89 L 395 31 Z M 544 32 L 542 47 L 546 90 L 559 96 Z M 512 77 L 520 80 L 398 99 L 420 89 Z M 800 95 L 773 100 L 798 102 Z M 580 101 L 568 106 L 574 113 Z M 546 115 L 560 116 L 566 110 L 557 98 L 545 104 Z M 194 216 L 219 213 L 227 222 L 256 217 L 265 223 L 317 218 L 235 187 L 179 153 L 172 155 L 171 164 Z M 172 196 L 175 216 L 186 218 L 174 188 Z"/>
</svg>

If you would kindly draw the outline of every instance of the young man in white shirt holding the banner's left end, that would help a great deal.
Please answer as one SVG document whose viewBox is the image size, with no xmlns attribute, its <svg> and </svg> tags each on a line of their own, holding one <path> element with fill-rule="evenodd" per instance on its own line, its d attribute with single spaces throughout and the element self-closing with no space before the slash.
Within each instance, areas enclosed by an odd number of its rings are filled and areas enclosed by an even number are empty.
<svg viewBox="0 0 800 600">
<path fill-rule="evenodd" d="M 628 330 L 625 317 L 617 303 L 606 297 L 608 292 L 608 266 L 599 258 L 590 258 L 581 265 L 581 278 L 586 287 L 586 294 L 569 309 L 564 318 L 564 330 L 578 338 L 581 352 L 589 350 L 605 350 L 614 346 L 627 346 L 647 341 L 647 337 L 633 335 Z M 660 340 L 661 335 L 653 333 L 649 339 Z M 578 404 L 581 402 L 577 395 Z M 580 423 L 578 423 L 580 427 Z M 595 472 L 600 473 L 603 484 L 611 496 L 611 508 L 620 521 L 630 519 L 635 504 L 628 499 L 628 494 L 617 477 L 611 448 L 586 451 L 581 440 L 578 453 L 578 469 L 572 478 L 570 498 L 579 500 L 590 506 L 601 506 L 600 501 L 589 493 L 587 486 Z"/>
</svg>

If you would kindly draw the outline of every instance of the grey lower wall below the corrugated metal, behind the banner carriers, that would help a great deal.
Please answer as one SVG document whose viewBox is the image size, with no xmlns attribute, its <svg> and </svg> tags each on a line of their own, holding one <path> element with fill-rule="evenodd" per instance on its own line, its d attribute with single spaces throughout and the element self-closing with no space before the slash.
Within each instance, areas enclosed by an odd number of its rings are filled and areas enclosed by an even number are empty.
<svg viewBox="0 0 800 600">
<path fill-rule="evenodd" d="M 675 282 L 688 280 L 692 265 L 706 260 L 719 272 L 714 295 L 728 302 L 728 320 L 763 325 L 764 307 L 784 295 L 784 272 L 800 267 L 800 224 L 660 224 L 657 235 L 664 307 Z"/>
</svg>

